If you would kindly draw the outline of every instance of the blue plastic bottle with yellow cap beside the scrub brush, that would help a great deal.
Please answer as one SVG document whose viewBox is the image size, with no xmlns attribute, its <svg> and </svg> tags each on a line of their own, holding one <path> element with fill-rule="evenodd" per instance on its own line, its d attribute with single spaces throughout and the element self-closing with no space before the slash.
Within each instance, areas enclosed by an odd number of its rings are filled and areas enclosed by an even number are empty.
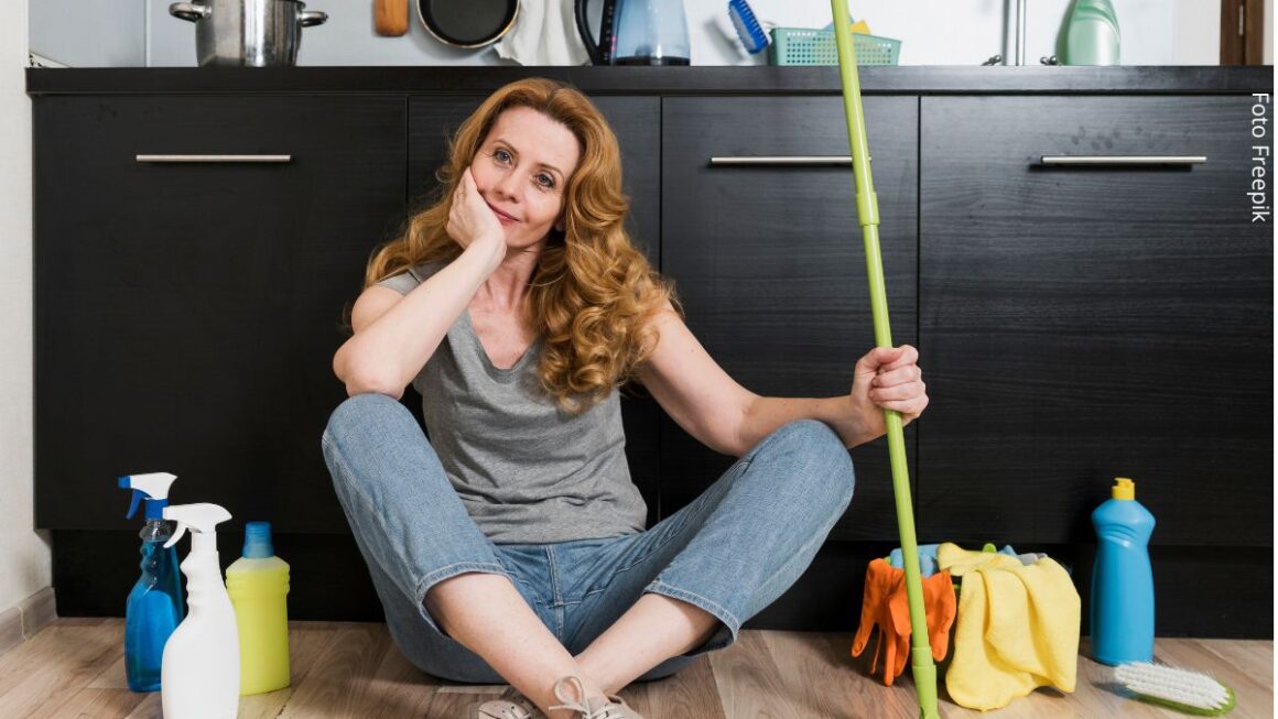
<svg viewBox="0 0 1278 719">
<path fill-rule="evenodd" d="M 1154 571 L 1149 536 L 1154 515 L 1136 501 L 1136 484 L 1116 478 L 1111 499 L 1091 512 L 1097 563 L 1091 571 L 1091 653 L 1116 667 L 1154 659 Z"/>
</svg>

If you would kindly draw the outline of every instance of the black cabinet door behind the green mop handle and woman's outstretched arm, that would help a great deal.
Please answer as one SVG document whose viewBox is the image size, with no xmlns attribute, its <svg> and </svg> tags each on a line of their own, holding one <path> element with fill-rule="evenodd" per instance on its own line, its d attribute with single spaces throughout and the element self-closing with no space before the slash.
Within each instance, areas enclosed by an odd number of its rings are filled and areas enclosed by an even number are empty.
<svg viewBox="0 0 1278 719">
<path fill-rule="evenodd" d="M 893 344 L 916 342 L 918 100 L 864 100 Z M 852 170 L 838 97 L 676 97 L 663 107 L 662 269 L 688 326 L 723 369 L 759 395 L 849 392 L 874 346 Z M 774 156 L 780 165 L 714 157 Z M 912 458 L 914 428 L 906 430 Z M 886 441 L 852 451 L 856 498 L 843 539 L 897 536 Z M 662 427 L 662 515 L 732 462 L 674 421 Z M 912 462 L 911 462 L 912 464 Z"/>
</svg>

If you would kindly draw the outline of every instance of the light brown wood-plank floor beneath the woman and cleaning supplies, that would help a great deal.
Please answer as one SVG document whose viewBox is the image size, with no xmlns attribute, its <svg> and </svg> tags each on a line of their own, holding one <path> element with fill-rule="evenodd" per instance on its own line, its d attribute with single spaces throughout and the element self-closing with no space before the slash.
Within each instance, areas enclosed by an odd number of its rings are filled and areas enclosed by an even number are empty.
<svg viewBox="0 0 1278 719">
<path fill-rule="evenodd" d="M 418 672 L 391 644 L 385 624 L 295 622 L 290 641 L 293 686 L 243 697 L 240 718 L 469 719 L 470 702 L 507 690 Z M 745 631 L 734 646 L 679 674 L 621 693 L 647 719 L 915 719 L 909 670 L 884 687 L 849 656 L 850 641 L 849 633 Z M 123 644 L 123 619 L 58 619 L 0 656 L 0 716 L 160 719 L 160 695 L 132 693 L 124 683 Z M 1235 719 L 1274 715 L 1273 641 L 1159 640 L 1157 658 L 1210 670 L 1232 686 Z M 1183 716 L 1121 692 L 1105 667 L 1080 658 L 1074 693 L 1040 688 L 985 716 Z M 942 716 L 982 716 L 948 701 L 943 685 L 941 693 Z"/>
</svg>

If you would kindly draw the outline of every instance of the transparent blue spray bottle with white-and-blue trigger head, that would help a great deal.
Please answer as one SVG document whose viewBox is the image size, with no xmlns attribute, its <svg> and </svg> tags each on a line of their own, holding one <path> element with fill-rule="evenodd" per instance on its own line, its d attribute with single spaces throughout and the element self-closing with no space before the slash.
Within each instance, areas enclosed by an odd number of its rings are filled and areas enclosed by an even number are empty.
<svg viewBox="0 0 1278 719">
<path fill-rule="evenodd" d="M 135 692 L 160 691 L 160 665 L 164 645 L 183 618 L 181 576 L 178 550 L 165 548 L 173 529 L 164 518 L 169 506 L 169 487 L 176 476 L 169 473 L 121 476 L 121 489 L 133 490 L 128 518 L 146 502 L 142 538 L 142 576 L 133 585 L 125 604 L 124 674 Z"/>
</svg>

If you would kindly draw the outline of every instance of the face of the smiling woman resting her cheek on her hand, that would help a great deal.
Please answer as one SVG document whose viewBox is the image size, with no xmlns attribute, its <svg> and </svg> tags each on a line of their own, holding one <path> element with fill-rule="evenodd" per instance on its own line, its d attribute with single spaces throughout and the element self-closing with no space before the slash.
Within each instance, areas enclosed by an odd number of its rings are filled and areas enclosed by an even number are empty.
<svg viewBox="0 0 1278 719">
<path fill-rule="evenodd" d="M 479 195 L 506 232 L 506 246 L 523 249 L 562 230 L 564 192 L 581 149 L 562 124 L 529 107 L 512 107 L 493 123 L 470 174 Z"/>
</svg>

